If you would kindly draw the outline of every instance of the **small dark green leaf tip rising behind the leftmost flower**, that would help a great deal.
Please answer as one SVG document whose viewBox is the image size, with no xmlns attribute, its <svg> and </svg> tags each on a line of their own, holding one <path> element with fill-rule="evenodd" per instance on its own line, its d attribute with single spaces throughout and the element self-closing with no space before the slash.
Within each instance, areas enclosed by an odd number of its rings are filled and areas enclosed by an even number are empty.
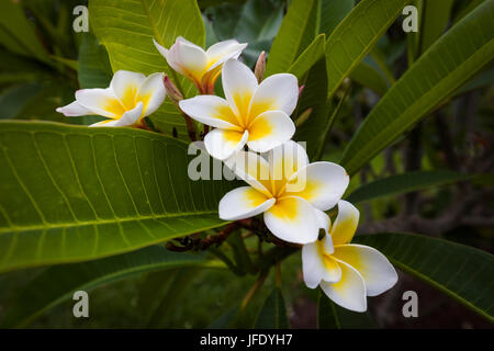
<svg viewBox="0 0 494 351">
<path fill-rule="evenodd" d="M 108 88 L 112 68 L 104 46 L 90 33 L 85 33 L 79 49 L 79 84 L 82 89 Z"/>
</svg>

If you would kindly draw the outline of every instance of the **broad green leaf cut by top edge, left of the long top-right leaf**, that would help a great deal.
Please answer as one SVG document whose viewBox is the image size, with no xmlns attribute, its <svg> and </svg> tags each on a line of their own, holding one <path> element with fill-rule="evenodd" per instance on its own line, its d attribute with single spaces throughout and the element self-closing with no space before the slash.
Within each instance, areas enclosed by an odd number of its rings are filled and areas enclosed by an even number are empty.
<svg viewBox="0 0 494 351">
<path fill-rule="evenodd" d="M 327 38 L 328 95 L 369 53 L 411 0 L 362 0 Z"/>
</svg>

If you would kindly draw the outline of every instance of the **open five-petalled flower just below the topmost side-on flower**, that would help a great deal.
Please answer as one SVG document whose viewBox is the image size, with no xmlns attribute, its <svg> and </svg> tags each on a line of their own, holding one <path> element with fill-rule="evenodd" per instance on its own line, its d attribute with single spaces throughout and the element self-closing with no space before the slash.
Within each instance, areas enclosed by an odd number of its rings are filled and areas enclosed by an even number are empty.
<svg viewBox="0 0 494 351">
<path fill-rule="evenodd" d="M 266 152 L 289 140 L 295 133 L 290 118 L 299 99 L 296 77 L 273 75 L 260 84 L 244 64 L 229 59 L 222 72 L 226 100 L 199 95 L 180 101 L 180 109 L 192 118 L 215 127 L 204 137 L 207 152 L 224 160 L 246 144 Z"/>
</svg>

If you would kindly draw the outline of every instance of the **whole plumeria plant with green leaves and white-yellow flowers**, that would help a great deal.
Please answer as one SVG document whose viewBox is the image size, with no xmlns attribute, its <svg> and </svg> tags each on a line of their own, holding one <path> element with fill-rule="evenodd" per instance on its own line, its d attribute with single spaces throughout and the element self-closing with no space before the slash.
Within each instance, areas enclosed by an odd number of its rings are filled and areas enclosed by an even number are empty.
<svg viewBox="0 0 494 351">
<path fill-rule="evenodd" d="M 449 171 L 433 156 L 424 167 L 417 140 L 435 116 L 451 143 L 442 114 L 484 89 L 494 1 L 217 2 L 90 0 L 77 58 L 40 42 L 55 30 L 35 1 L 0 5 L 19 26 L 2 49 L 65 80 L 57 113 L 34 115 L 58 123 L 0 122 L 0 272 L 36 273 L 0 322 L 29 326 L 76 291 L 134 276 L 143 325 L 172 326 L 166 301 L 209 271 L 250 285 L 213 327 L 296 326 L 283 296 L 299 282 L 318 327 L 369 326 L 383 304 L 368 296 L 389 292 L 381 302 L 402 312 L 400 271 L 492 322 L 492 254 L 441 237 L 487 193 L 474 173 L 492 162 L 464 169 L 446 149 Z M 419 30 L 403 34 L 411 3 Z M 446 183 L 464 204 L 427 218 L 417 191 Z M 396 200 L 398 216 L 372 220 Z"/>
</svg>

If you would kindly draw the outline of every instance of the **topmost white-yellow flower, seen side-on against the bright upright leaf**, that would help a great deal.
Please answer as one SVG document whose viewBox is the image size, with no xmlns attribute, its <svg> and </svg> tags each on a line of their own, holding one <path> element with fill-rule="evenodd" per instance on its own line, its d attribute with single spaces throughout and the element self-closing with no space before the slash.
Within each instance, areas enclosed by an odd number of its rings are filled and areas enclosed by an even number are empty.
<svg viewBox="0 0 494 351">
<path fill-rule="evenodd" d="M 207 50 L 204 50 L 181 36 L 177 37 L 169 49 L 155 39 L 153 42 L 168 65 L 192 80 L 202 94 L 214 92 L 214 83 L 223 64 L 229 58 L 237 59 L 247 47 L 247 44 L 229 39 L 211 45 Z"/>
</svg>

